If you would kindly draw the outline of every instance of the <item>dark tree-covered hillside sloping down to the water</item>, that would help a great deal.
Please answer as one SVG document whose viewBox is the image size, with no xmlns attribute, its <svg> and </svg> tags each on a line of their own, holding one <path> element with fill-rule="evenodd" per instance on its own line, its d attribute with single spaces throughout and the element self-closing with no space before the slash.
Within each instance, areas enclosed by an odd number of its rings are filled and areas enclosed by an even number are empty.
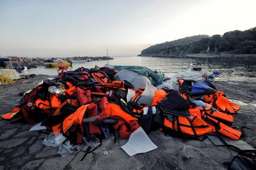
<svg viewBox="0 0 256 170">
<path fill-rule="evenodd" d="M 143 49 L 140 56 L 177 57 L 187 54 L 256 54 L 256 27 L 245 31 L 229 31 L 222 36 L 198 35 L 163 42 Z"/>
</svg>

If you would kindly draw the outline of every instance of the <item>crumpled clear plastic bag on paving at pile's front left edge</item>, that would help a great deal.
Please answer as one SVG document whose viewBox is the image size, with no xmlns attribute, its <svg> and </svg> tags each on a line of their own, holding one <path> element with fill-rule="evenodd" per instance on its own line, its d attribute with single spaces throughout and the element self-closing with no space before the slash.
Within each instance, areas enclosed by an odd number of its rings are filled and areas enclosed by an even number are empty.
<svg viewBox="0 0 256 170">
<path fill-rule="evenodd" d="M 80 150 L 79 145 L 70 145 L 69 140 L 64 142 L 67 138 L 62 134 L 58 134 L 54 136 L 53 132 L 51 132 L 48 136 L 43 140 L 43 145 L 46 147 L 59 147 L 58 153 L 65 158 L 69 156 L 71 153 L 78 152 Z M 64 144 L 63 144 L 64 142 Z"/>
</svg>

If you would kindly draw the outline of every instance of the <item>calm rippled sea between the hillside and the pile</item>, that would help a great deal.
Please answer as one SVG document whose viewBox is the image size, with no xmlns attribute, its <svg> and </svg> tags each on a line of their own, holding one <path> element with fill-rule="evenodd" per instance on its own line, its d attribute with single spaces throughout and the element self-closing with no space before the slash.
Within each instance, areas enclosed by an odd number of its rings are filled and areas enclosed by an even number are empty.
<svg viewBox="0 0 256 170">
<path fill-rule="evenodd" d="M 167 77 L 186 69 L 190 63 L 200 62 L 204 70 L 211 73 L 213 70 L 221 71 L 221 76 L 216 81 L 239 81 L 256 83 L 256 59 L 231 60 L 216 58 L 161 58 L 161 57 L 113 57 L 114 60 L 101 60 L 94 62 L 73 63 L 71 70 L 79 67 L 92 68 L 95 65 L 103 67 L 105 63 L 111 65 L 139 65 L 158 70 Z M 207 65 L 208 63 L 208 65 Z M 28 70 L 28 74 L 57 75 L 56 68 L 38 67 Z"/>
</svg>

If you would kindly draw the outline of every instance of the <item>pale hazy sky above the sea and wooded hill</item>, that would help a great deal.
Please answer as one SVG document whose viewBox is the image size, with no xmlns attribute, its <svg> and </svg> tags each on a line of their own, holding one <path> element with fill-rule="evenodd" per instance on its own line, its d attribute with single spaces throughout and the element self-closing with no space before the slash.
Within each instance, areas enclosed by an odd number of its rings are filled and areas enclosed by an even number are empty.
<svg viewBox="0 0 256 170">
<path fill-rule="evenodd" d="M 153 44 L 256 26 L 255 0 L 0 0 L 0 55 L 134 56 Z"/>
</svg>

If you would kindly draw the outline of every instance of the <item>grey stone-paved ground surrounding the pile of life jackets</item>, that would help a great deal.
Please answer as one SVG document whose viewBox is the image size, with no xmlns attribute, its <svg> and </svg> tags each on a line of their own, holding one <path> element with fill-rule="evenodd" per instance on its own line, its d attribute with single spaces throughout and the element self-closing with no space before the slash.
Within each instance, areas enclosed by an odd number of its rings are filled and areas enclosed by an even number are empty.
<svg viewBox="0 0 256 170">
<path fill-rule="evenodd" d="M 19 92 L 31 89 L 47 75 L 37 75 L 27 81 L 0 86 L 0 115 L 7 113 L 19 102 Z M 234 115 L 233 127 L 243 129 L 245 140 L 256 147 L 255 83 L 227 83 L 216 81 L 217 89 L 231 99 L 241 100 L 239 114 Z M 62 158 L 58 148 L 45 147 L 45 134 L 30 132 L 32 124 L 9 123 L 0 118 L 0 169 L 226 169 L 237 152 L 227 147 L 216 147 L 210 140 L 188 140 L 164 136 L 161 131 L 148 134 L 158 146 L 156 150 L 130 157 L 121 146 L 127 139 L 114 137 L 103 140 L 103 145 L 80 161 L 87 150 L 82 145 L 78 153 Z M 108 155 L 104 155 L 103 152 Z M 184 156 L 186 155 L 186 156 Z"/>
</svg>

